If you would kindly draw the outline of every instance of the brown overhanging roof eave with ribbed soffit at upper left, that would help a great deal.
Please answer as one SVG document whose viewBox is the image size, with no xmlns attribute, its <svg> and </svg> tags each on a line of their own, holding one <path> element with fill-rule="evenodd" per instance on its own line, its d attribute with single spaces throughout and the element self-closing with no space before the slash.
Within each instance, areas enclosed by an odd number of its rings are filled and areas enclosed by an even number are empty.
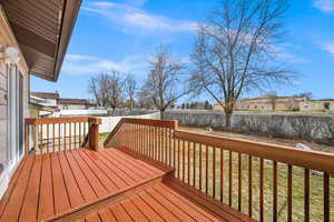
<svg viewBox="0 0 334 222">
<path fill-rule="evenodd" d="M 30 73 L 57 81 L 81 0 L 0 0 Z"/>
</svg>

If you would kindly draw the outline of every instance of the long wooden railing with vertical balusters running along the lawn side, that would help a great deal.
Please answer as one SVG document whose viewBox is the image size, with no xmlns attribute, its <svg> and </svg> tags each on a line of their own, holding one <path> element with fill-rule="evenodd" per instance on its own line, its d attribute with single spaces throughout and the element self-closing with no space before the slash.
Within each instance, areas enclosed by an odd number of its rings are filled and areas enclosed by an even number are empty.
<svg viewBox="0 0 334 222">
<path fill-rule="evenodd" d="M 121 119 L 105 147 L 175 170 L 175 178 L 258 221 L 334 219 L 334 154 L 178 130 L 177 121 Z M 331 219 L 330 219 L 331 218 Z"/>
</svg>

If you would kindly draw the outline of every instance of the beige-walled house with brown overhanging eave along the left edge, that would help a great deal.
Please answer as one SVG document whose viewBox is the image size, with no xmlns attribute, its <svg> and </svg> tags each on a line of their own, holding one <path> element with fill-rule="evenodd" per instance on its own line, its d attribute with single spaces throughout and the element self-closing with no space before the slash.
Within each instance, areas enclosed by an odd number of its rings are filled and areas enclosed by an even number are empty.
<svg viewBox="0 0 334 222">
<path fill-rule="evenodd" d="M 0 0 L 0 196 L 23 157 L 30 74 L 57 81 L 80 3 Z"/>
</svg>

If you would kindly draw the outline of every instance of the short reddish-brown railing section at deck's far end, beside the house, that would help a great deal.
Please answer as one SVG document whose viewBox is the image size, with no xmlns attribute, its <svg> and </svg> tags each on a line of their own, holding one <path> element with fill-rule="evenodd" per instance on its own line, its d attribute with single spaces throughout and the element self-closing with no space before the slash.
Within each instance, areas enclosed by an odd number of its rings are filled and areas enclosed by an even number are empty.
<svg viewBox="0 0 334 222">
<path fill-rule="evenodd" d="M 99 148 L 101 120 L 90 117 L 26 119 L 24 150 L 50 153 L 89 147 Z"/>
</svg>

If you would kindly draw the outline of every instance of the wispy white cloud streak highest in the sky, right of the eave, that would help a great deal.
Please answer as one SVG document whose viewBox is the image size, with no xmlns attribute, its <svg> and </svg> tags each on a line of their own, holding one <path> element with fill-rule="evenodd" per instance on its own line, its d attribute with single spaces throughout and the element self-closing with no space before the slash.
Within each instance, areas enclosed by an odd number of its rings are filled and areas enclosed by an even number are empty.
<svg viewBox="0 0 334 222">
<path fill-rule="evenodd" d="M 197 22 L 195 21 L 170 19 L 148 13 L 147 11 L 128 4 L 108 1 L 88 2 L 82 9 L 106 17 L 126 32 L 191 32 L 197 28 Z"/>
</svg>

